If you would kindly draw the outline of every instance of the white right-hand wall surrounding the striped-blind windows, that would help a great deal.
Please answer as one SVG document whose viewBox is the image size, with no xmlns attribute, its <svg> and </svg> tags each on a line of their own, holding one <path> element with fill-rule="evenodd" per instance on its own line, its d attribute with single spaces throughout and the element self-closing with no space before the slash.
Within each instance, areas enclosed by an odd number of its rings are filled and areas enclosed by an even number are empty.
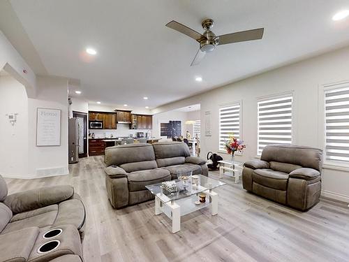
<svg viewBox="0 0 349 262">
<path fill-rule="evenodd" d="M 233 69 L 233 68 L 232 68 Z M 349 48 L 343 48 L 318 57 L 274 71 L 262 73 L 252 78 L 226 85 L 175 103 L 156 108 L 153 112 L 163 112 L 174 108 L 200 103 L 201 106 L 201 150 L 218 150 L 218 107 L 224 103 L 242 101 L 242 138 L 247 147 L 242 157 L 246 161 L 257 152 L 257 99 L 261 96 L 294 92 L 294 143 L 322 148 L 318 124 L 322 119 L 318 114 L 319 86 L 349 80 Z M 211 133 L 205 136 L 203 122 L 205 111 L 211 111 Z M 320 141 L 320 142 L 319 142 Z M 228 155 L 224 155 L 228 158 Z M 322 194 L 343 201 L 349 201 L 348 170 L 324 168 L 322 174 Z"/>
</svg>

